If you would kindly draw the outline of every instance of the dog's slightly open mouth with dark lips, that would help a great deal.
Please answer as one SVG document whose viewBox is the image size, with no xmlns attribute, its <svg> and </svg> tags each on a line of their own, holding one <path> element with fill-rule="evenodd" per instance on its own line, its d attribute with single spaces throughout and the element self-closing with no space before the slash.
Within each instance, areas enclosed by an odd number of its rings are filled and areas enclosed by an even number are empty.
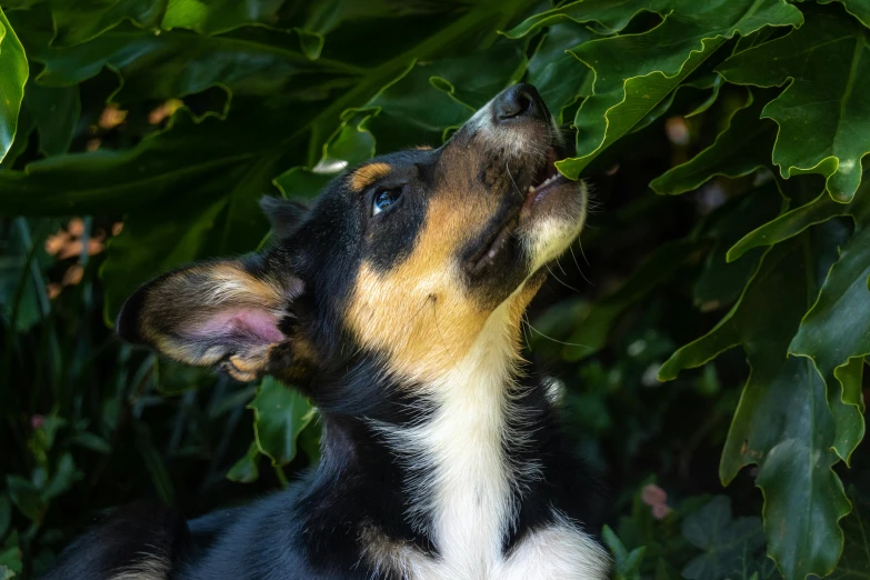
<svg viewBox="0 0 870 580">
<path fill-rule="evenodd" d="M 494 263 L 498 256 L 510 242 L 511 237 L 518 228 L 531 221 L 534 218 L 536 209 L 550 197 L 551 193 L 561 189 L 563 186 L 572 184 L 569 180 L 556 169 L 556 162 L 568 157 L 556 146 L 551 146 L 547 151 L 543 166 L 532 176 L 522 203 L 517 204 L 501 222 L 492 230 L 492 233 L 483 241 L 480 249 L 476 251 L 469 260 L 469 272 L 471 274 L 483 271 L 487 267 Z"/>
</svg>

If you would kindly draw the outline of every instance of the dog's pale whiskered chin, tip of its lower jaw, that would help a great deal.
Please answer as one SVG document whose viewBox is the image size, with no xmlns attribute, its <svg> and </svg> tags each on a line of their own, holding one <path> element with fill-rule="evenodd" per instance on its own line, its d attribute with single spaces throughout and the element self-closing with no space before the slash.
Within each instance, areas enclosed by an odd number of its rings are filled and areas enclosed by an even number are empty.
<svg viewBox="0 0 870 580">
<path fill-rule="evenodd" d="M 586 183 L 562 176 L 530 192 L 517 228 L 530 273 L 556 260 L 580 236 L 586 222 L 587 194 Z"/>
</svg>

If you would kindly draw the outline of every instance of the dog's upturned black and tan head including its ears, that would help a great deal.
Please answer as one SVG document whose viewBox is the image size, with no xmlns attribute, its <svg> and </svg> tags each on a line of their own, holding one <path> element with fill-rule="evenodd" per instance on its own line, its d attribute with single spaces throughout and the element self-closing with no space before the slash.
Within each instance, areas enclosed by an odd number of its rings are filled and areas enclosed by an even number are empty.
<svg viewBox="0 0 870 580">
<path fill-rule="evenodd" d="M 368 357 L 437 378 L 484 331 L 518 336 L 547 262 L 580 233 L 586 189 L 533 87 L 517 84 L 439 149 L 372 159 L 310 208 L 264 203 L 262 253 L 167 273 L 137 291 L 118 332 L 240 380 L 302 381 Z"/>
</svg>

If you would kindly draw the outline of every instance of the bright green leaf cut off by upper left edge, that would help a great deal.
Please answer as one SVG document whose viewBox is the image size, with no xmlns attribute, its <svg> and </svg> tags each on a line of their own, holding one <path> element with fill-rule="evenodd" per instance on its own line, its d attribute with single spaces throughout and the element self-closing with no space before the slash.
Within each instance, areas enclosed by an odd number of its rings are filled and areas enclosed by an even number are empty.
<svg viewBox="0 0 870 580">
<path fill-rule="evenodd" d="M 0 8 L 0 161 L 16 138 L 28 71 L 24 47 Z"/>
</svg>

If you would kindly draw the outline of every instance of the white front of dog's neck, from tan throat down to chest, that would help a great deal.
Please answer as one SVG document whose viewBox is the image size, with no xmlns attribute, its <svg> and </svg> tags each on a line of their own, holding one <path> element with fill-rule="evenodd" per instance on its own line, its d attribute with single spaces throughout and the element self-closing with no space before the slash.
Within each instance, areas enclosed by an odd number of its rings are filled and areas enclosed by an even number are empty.
<svg viewBox="0 0 870 580">
<path fill-rule="evenodd" d="M 518 360 L 507 310 L 493 312 L 464 357 L 426 386 L 427 420 L 384 431 L 408 473 L 412 521 L 444 561 L 494 560 L 516 518 L 520 473 L 508 456 L 522 441 L 510 422 L 519 412 L 511 400 Z"/>
</svg>

